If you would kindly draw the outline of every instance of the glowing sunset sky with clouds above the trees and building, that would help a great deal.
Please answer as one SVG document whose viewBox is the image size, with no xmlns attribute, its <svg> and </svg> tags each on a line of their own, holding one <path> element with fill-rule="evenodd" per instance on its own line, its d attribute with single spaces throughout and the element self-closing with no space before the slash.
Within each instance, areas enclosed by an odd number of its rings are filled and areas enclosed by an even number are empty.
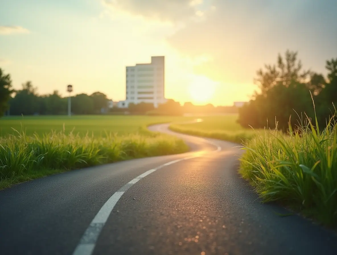
<svg viewBox="0 0 337 255">
<path fill-rule="evenodd" d="M 298 51 L 325 74 L 337 57 L 336 0 L 3 0 L 0 68 L 40 94 L 125 99 L 125 66 L 165 56 L 165 97 L 232 105 L 256 70 Z"/>
</svg>

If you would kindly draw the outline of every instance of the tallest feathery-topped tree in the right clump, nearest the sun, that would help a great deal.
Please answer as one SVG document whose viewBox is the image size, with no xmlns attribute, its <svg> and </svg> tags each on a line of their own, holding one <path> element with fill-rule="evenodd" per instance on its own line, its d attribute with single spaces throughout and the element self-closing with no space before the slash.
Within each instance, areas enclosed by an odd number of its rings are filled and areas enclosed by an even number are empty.
<svg viewBox="0 0 337 255">
<path fill-rule="evenodd" d="M 290 116 L 294 128 L 305 123 L 305 115 L 301 117 L 301 114 L 314 117 L 310 91 L 318 95 L 324 90 L 323 75 L 303 71 L 297 52 L 286 51 L 284 59 L 279 54 L 276 65 L 265 65 L 266 71 L 257 71 L 255 83 L 261 93 L 255 93 L 255 97 L 239 109 L 238 122 L 243 127 L 275 128 L 276 119 L 278 129 L 287 131 Z"/>
</svg>

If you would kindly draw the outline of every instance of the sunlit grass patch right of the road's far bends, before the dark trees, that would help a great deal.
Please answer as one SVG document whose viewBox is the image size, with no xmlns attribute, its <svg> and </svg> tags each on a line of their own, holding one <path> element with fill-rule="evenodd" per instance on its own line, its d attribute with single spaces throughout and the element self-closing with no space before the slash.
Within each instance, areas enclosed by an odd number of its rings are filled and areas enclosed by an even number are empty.
<svg viewBox="0 0 337 255">
<path fill-rule="evenodd" d="M 241 143 L 251 139 L 256 131 L 242 128 L 236 122 L 237 118 L 236 114 L 208 116 L 202 117 L 203 121 L 198 123 L 172 124 L 170 129 L 185 134 Z"/>
</svg>

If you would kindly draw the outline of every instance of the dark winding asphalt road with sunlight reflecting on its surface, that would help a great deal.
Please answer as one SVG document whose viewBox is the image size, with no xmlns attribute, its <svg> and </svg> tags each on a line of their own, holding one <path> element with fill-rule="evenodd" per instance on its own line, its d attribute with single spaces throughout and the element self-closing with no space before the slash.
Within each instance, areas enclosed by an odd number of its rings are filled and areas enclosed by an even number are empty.
<svg viewBox="0 0 337 255">
<path fill-rule="evenodd" d="M 259 201 L 235 144 L 179 136 L 190 153 L 0 191 L 0 254 L 337 254 L 333 232 Z"/>
</svg>

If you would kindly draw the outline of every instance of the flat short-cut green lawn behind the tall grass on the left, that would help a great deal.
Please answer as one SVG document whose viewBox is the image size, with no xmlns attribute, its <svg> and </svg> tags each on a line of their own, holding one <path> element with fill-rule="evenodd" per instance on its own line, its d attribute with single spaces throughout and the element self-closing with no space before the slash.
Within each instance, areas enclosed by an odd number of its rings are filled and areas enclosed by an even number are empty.
<svg viewBox="0 0 337 255">
<path fill-rule="evenodd" d="M 105 136 L 105 131 L 118 135 L 134 134 L 141 127 L 153 123 L 176 122 L 192 120 L 194 117 L 161 117 L 161 116 L 116 116 L 116 115 L 86 115 L 86 116 L 9 116 L 0 119 L 0 136 L 17 134 L 13 129 L 25 131 L 26 135 L 37 133 L 42 135 L 53 131 L 63 131 L 80 134 L 92 133 L 94 136 Z"/>
</svg>

